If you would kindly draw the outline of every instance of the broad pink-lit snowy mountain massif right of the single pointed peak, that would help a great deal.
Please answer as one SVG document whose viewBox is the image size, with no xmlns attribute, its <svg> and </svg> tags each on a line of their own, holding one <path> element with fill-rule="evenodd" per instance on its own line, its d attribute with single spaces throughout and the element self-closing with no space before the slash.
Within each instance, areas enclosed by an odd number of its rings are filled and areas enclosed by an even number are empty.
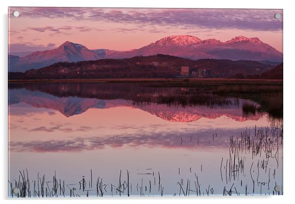
<svg viewBox="0 0 295 204">
<path fill-rule="evenodd" d="M 169 36 L 140 49 L 113 52 L 106 58 L 126 58 L 136 55 L 169 54 L 190 59 L 214 58 L 231 60 L 269 60 L 281 62 L 283 54 L 258 38 L 238 36 L 229 41 L 200 40 L 190 35 Z"/>
</svg>

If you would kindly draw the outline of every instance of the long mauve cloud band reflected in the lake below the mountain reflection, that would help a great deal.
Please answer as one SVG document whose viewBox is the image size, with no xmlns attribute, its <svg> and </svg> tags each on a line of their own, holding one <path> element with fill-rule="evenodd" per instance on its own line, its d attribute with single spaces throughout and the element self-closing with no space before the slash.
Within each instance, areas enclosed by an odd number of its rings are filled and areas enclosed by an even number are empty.
<svg viewBox="0 0 295 204">
<path fill-rule="evenodd" d="M 40 128 L 42 129 L 42 127 Z M 12 141 L 10 151 L 14 152 L 78 152 L 108 147 L 147 146 L 163 148 L 201 148 L 228 147 L 230 135 L 239 135 L 243 129 L 211 129 L 187 133 L 142 133 L 137 135 L 124 134 L 109 137 L 73 137 L 67 140 L 47 141 Z M 215 134 L 214 132 L 217 132 Z M 213 134 L 214 133 L 214 134 Z"/>
</svg>

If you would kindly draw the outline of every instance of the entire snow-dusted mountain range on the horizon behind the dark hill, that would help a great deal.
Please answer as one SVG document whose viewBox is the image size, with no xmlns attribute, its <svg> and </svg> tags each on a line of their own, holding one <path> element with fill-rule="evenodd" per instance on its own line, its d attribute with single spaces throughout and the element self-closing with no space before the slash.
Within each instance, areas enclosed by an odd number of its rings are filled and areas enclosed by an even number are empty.
<svg viewBox="0 0 295 204">
<path fill-rule="evenodd" d="M 221 42 L 216 39 L 201 40 L 191 35 L 164 37 L 154 43 L 130 51 L 107 49 L 89 50 L 83 45 L 66 41 L 53 50 L 35 51 L 20 57 L 8 55 L 9 72 L 25 72 L 56 62 L 77 62 L 98 59 L 123 59 L 134 56 L 169 54 L 188 59 L 229 59 L 282 62 L 283 54 L 258 38 L 238 36 Z"/>
</svg>

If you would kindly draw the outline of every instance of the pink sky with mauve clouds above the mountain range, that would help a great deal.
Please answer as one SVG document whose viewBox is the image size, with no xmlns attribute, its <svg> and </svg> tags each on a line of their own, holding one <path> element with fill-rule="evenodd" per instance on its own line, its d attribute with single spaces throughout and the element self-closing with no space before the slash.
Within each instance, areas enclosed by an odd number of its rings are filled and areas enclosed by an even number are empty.
<svg viewBox="0 0 295 204">
<path fill-rule="evenodd" d="M 13 11 L 20 16 L 12 16 Z M 88 49 L 130 50 L 169 35 L 227 41 L 258 37 L 282 51 L 282 10 L 10 7 L 9 50 L 53 49 L 71 41 Z"/>
</svg>

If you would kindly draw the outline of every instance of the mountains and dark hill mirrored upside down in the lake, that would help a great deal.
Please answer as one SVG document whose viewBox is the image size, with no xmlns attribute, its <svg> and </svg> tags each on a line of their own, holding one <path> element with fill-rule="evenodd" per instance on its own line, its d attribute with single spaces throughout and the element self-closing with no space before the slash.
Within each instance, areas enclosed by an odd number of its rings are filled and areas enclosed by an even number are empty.
<svg viewBox="0 0 295 204">
<path fill-rule="evenodd" d="M 81 114 L 89 108 L 111 108 L 127 106 L 147 111 L 159 118 L 172 122 L 192 122 L 205 117 L 215 119 L 227 116 L 236 121 L 258 120 L 263 114 L 245 117 L 241 108 L 242 99 L 226 99 L 226 105 L 169 105 L 153 102 L 134 102 L 160 94 L 169 95 L 180 88 L 150 88 L 142 86 L 118 86 L 114 84 L 83 85 L 49 83 L 45 85 L 25 84 L 25 88 L 9 87 L 9 104 L 25 102 L 34 107 L 58 110 L 66 117 Z M 88 87 L 88 89 L 87 89 Z M 55 91 L 54 91 L 55 88 Z M 47 92 L 47 93 L 44 93 Z M 95 98 L 97 97 L 97 98 Z"/>
</svg>

